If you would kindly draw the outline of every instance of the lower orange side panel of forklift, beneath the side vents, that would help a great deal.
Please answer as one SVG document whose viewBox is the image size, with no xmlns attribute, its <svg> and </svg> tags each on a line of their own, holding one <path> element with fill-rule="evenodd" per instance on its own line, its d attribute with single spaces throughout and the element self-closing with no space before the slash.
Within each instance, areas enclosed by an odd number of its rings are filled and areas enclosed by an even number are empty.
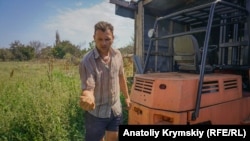
<svg viewBox="0 0 250 141">
<path fill-rule="evenodd" d="M 250 115 L 250 97 L 201 108 L 195 121 L 191 120 L 193 111 L 188 114 L 190 124 L 211 121 L 212 124 L 241 124 Z"/>
</svg>

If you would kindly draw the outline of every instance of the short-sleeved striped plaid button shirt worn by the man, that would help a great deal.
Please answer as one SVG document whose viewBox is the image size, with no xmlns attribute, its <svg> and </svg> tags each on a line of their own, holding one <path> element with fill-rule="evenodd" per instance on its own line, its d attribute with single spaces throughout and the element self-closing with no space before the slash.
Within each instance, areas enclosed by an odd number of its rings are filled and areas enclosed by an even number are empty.
<svg viewBox="0 0 250 141">
<path fill-rule="evenodd" d="M 119 86 L 119 75 L 124 75 L 122 55 L 111 48 L 110 57 L 110 65 L 106 65 L 94 48 L 79 66 L 82 90 L 94 90 L 96 108 L 89 113 L 99 118 L 109 118 L 111 110 L 115 116 L 122 113 Z"/>
</svg>

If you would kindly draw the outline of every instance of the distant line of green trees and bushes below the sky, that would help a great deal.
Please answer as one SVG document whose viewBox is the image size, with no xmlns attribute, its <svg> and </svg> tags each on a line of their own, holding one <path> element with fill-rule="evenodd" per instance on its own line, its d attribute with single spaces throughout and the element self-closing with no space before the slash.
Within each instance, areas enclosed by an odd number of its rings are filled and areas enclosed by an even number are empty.
<svg viewBox="0 0 250 141">
<path fill-rule="evenodd" d="M 89 47 L 81 49 L 80 46 L 73 45 L 70 41 L 60 40 L 56 32 L 55 45 L 46 46 L 40 41 L 31 41 L 28 45 L 20 41 L 14 41 L 9 48 L 0 48 L 0 61 L 28 61 L 32 59 L 63 59 L 65 57 L 81 58 L 86 52 L 94 48 L 94 42 L 89 43 Z M 133 53 L 133 46 L 119 48 L 122 54 Z"/>
</svg>

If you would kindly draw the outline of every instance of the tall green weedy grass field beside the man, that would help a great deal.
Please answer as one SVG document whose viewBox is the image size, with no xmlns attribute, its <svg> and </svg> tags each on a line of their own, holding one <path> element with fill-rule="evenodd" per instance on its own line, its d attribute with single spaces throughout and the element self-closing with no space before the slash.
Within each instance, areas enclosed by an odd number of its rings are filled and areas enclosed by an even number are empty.
<svg viewBox="0 0 250 141">
<path fill-rule="evenodd" d="M 84 141 L 78 66 L 0 62 L 0 72 L 1 141 Z"/>
</svg>

